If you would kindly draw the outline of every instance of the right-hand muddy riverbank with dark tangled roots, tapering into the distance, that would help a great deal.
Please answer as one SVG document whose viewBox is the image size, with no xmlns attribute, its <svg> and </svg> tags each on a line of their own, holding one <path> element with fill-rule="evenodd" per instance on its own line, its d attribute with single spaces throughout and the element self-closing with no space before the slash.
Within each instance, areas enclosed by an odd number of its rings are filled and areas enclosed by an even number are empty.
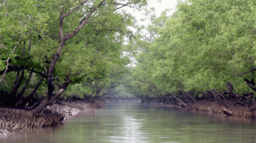
<svg viewBox="0 0 256 143">
<path fill-rule="evenodd" d="M 181 110 L 213 115 L 216 118 L 255 122 L 256 102 L 251 97 L 252 94 L 241 96 L 228 91 L 208 91 L 201 93 L 201 96 L 180 92 L 153 98 L 142 97 L 141 100 L 153 106 L 179 107 Z"/>
</svg>

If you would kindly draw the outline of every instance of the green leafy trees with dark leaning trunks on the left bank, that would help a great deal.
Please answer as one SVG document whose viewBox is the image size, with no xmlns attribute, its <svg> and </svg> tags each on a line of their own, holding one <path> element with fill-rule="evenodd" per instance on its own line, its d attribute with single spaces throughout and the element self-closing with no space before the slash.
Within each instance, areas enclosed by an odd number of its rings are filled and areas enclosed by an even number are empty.
<svg viewBox="0 0 256 143">
<path fill-rule="evenodd" d="M 31 111 L 40 112 L 69 85 L 76 94 L 100 94 L 127 70 L 121 47 L 134 20 L 122 7 L 144 5 L 144 0 L 0 1 L 1 105 L 23 107 L 43 95 Z M 81 89 L 83 84 L 90 89 Z"/>
</svg>

